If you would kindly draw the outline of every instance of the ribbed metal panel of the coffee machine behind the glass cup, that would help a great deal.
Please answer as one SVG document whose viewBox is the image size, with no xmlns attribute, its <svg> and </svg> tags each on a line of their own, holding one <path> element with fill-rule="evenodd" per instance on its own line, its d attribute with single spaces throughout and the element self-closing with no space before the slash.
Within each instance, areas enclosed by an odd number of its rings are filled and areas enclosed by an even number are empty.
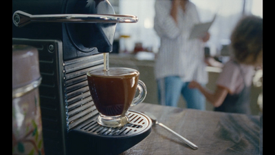
<svg viewBox="0 0 275 155">
<path fill-rule="evenodd" d="M 86 73 L 89 70 L 103 68 L 103 54 L 65 61 L 63 65 L 67 130 L 71 130 L 88 118 L 98 114 L 91 99 Z"/>
</svg>

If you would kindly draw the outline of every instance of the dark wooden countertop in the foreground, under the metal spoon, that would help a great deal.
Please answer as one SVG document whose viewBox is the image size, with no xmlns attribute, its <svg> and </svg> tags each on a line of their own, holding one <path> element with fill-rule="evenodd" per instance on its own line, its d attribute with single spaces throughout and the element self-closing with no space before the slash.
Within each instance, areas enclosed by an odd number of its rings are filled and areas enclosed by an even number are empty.
<svg viewBox="0 0 275 155">
<path fill-rule="evenodd" d="M 262 154 L 262 117 L 200 111 L 140 103 L 130 110 L 150 112 L 199 149 L 194 150 L 159 125 L 123 155 L 148 154 Z M 261 119 L 261 121 L 260 121 Z M 120 154 L 120 155 L 122 155 Z"/>
</svg>

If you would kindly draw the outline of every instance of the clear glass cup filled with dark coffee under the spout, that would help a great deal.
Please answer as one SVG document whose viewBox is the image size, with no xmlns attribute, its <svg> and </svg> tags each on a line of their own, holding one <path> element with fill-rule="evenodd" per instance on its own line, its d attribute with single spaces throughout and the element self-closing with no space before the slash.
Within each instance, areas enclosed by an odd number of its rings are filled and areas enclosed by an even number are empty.
<svg viewBox="0 0 275 155">
<path fill-rule="evenodd" d="M 121 127 L 129 122 L 126 116 L 129 107 L 144 101 L 147 94 L 146 85 L 139 80 L 139 76 L 140 72 L 131 68 L 87 72 L 89 90 L 99 112 L 97 121 L 100 125 Z"/>
</svg>

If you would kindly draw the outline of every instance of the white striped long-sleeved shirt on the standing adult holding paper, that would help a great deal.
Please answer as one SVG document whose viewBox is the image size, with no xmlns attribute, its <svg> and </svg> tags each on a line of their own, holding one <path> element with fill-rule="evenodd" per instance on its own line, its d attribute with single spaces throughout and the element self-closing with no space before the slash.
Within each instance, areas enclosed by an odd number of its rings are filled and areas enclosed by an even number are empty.
<svg viewBox="0 0 275 155">
<path fill-rule="evenodd" d="M 186 12 L 178 6 L 177 23 L 170 16 L 172 1 L 155 1 L 154 29 L 161 39 L 155 61 L 155 78 L 180 76 L 182 81 L 195 80 L 208 83 L 204 63 L 204 43 L 201 39 L 188 39 L 192 26 L 199 23 L 194 3 L 188 1 Z"/>
</svg>

